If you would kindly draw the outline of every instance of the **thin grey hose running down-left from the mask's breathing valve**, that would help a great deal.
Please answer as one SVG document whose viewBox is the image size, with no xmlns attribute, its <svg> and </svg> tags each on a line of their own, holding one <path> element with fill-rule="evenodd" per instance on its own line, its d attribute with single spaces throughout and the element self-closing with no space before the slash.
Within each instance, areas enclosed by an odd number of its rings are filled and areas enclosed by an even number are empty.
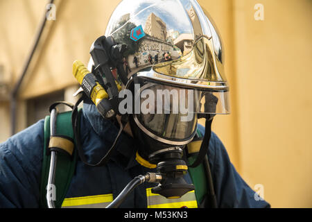
<svg viewBox="0 0 312 222">
<path fill-rule="evenodd" d="M 144 176 L 136 176 L 133 180 L 131 180 L 125 188 L 123 188 L 123 191 L 108 205 L 106 208 L 117 208 L 121 203 L 123 203 L 123 200 L 135 189 L 135 187 L 141 185 L 145 182 Z"/>
</svg>

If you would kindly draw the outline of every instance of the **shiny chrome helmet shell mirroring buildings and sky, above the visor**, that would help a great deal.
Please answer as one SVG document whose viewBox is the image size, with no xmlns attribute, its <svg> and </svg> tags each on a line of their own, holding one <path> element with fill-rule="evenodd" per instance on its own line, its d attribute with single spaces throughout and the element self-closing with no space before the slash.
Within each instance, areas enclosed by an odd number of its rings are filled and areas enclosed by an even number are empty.
<svg viewBox="0 0 312 222">
<path fill-rule="evenodd" d="M 227 91 L 220 37 L 196 1 L 124 0 L 105 35 L 127 44 L 128 77 L 153 67 L 155 80 Z"/>
</svg>

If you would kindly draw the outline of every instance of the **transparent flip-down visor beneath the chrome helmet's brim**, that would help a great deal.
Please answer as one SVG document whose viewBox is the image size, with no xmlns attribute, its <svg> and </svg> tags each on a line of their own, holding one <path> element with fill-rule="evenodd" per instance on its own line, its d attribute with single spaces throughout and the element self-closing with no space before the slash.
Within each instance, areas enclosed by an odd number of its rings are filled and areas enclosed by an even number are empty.
<svg viewBox="0 0 312 222">
<path fill-rule="evenodd" d="M 176 114 L 190 121 L 198 113 L 229 114 L 228 92 L 185 88 L 145 78 L 135 85 L 135 104 L 141 114 Z"/>
</svg>

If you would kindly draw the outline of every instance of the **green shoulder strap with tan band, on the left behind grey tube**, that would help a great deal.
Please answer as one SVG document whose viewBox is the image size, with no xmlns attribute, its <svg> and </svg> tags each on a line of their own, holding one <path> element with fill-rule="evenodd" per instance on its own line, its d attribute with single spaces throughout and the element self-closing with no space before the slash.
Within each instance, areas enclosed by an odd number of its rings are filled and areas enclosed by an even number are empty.
<svg viewBox="0 0 312 222">
<path fill-rule="evenodd" d="M 71 139 L 75 142 L 73 137 L 73 128 L 71 125 L 71 112 L 62 112 L 57 116 L 56 122 L 57 135 L 60 138 Z M 44 120 L 44 150 L 43 150 L 43 162 L 42 162 L 42 174 L 40 184 L 40 206 L 47 207 L 46 204 L 46 186 L 49 177 L 49 167 L 51 161 L 51 155 L 49 151 L 50 141 L 50 117 L 46 117 Z M 74 143 L 76 146 L 76 143 Z M 62 146 L 62 145 L 60 145 Z M 72 155 L 68 155 L 66 152 L 59 152 L 55 171 L 55 207 L 61 207 L 62 202 L 67 194 L 71 178 L 76 169 L 77 152 L 73 149 Z"/>
</svg>

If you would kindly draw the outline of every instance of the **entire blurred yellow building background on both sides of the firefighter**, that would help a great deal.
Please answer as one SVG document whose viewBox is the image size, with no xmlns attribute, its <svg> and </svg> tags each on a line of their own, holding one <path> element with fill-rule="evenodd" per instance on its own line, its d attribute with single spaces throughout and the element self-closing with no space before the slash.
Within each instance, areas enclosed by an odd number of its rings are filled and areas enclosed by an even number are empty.
<svg viewBox="0 0 312 222">
<path fill-rule="evenodd" d="M 198 2 L 223 38 L 230 85 L 231 114 L 215 118 L 214 132 L 272 207 L 312 207 L 312 1 Z M 49 3 L 0 0 L 0 142 L 53 101 L 73 101 L 73 61 L 87 64 L 119 0 Z"/>
</svg>

